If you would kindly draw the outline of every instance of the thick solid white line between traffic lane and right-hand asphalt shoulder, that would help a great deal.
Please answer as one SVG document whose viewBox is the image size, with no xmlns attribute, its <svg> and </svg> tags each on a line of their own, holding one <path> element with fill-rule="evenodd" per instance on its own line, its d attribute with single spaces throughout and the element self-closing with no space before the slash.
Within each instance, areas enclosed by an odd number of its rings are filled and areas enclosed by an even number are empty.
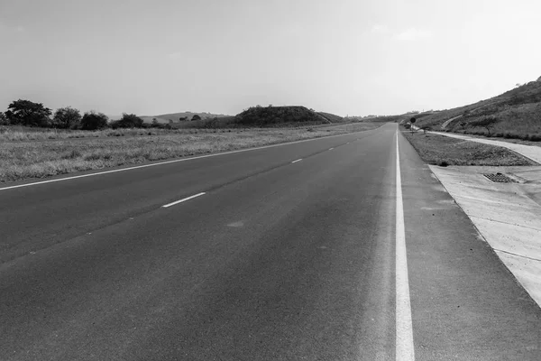
<svg viewBox="0 0 541 361">
<path fill-rule="evenodd" d="M 406 252 L 406 230 L 402 179 L 400 175 L 399 133 L 397 131 L 397 219 L 396 219 L 396 359 L 415 360 L 413 328 L 411 325 L 411 303 L 409 301 L 408 254 Z"/>
</svg>

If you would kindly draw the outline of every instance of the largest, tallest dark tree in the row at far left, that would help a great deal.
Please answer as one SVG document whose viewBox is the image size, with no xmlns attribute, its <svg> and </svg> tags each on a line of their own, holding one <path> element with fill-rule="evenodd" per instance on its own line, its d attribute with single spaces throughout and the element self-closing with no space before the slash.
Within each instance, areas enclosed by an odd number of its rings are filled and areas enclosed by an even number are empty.
<svg viewBox="0 0 541 361">
<path fill-rule="evenodd" d="M 12 125 L 50 126 L 50 108 L 30 100 L 14 100 L 5 112 Z"/>
</svg>

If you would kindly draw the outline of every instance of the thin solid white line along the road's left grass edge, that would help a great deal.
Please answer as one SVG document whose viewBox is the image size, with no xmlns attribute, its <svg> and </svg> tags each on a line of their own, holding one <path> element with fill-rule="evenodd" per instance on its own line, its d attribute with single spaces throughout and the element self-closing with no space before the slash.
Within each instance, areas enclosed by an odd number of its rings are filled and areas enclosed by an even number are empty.
<svg viewBox="0 0 541 361">
<path fill-rule="evenodd" d="M 376 128 L 376 129 L 378 129 L 378 128 Z M 373 129 L 371 129 L 371 130 L 373 130 Z M 362 131 L 362 132 L 366 132 L 366 131 Z M 354 132 L 354 133 L 361 133 L 361 132 Z M 236 151 L 230 151 L 230 152 L 224 152 L 224 153 L 214 153 L 214 154 L 206 154 L 206 155 L 197 155 L 197 156 L 195 156 L 195 157 L 190 157 L 190 158 L 175 159 L 175 160 L 173 160 L 173 161 L 156 162 L 156 163 L 151 163 L 151 164 L 143 164 L 143 165 L 137 165 L 137 166 L 134 166 L 134 167 L 122 168 L 122 169 L 112 170 L 112 171 L 98 171 L 98 172 L 96 172 L 96 173 L 76 175 L 76 176 L 72 176 L 72 177 L 60 178 L 60 179 L 58 179 L 58 180 L 41 180 L 41 181 L 34 181 L 34 182 L 32 182 L 32 183 L 19 184 L 19 185 L 16 185 L 16 186 L 9 186 L 9 187 L 0 188 L 0 190 L 13 190 L 13 189 L 15 189 L 15 188 L 30 187 L 30 186 L 35 186 L 35 185 L 39 185 L 39 184 L 52 183 L 52 182 L 55 182 L 55 181 L 76 180 L 76 179 L 78 179 L 78 178 L 93 177 L 93 176 L 95 176 L 95 175 L 101 175 L 101 174 L 107 174 L 107 173 L 115 173 L 115 172 L 118 172 L 118 171 L 132 171 L 132 170 L 134 170 L 134 169 L 147 168 L 147 167 L 155 167 L 155 166 L 157 166 L 157 165 L 162 165 L 162 164 L 169 164 L 169 163 L 176 163 L 176 162 L 188 162 L 188 161 L 192 161 L 192 160 L 195 160 L 195 159 L 202 159 L 202 158 L 209 158 L 209 157 L 217 157 L 217 156 L 219 156 L 219 155 L 225 155 L 225 154 L 233 154 L 233 153 L 242 153 L 242 152 L 257 151 L 257 150 L 260 150 L 260 149 L 274 148 L 274 147 L 277 147 L 277 146 L 283 146 L 283 145 L 289 145 L 289 144 L 296 144 L 296 143 L 311 142 L 311 141 L 316 141 L 316 140 L 321 140 L 321 139 L 326 139 L 326 138 L 334 138 L 335 136 L 344 136 L 344 135 L 354 134 L 354 133 L 344 133 L 344 134 L 326 135 L 326 136 L 320 136 L 320 137 L 317 137 L 317 138 L 303 139 L 303 140 L 295 141 L 295 142 L 278 143 L 278 144 L 271 144 L 271 145 L 263 145 L 263 146 L 260 146 L 260 147 L 246 148 L 246 149 L 238 149 L 238 150 L 236 150 Z"/>
</svg>

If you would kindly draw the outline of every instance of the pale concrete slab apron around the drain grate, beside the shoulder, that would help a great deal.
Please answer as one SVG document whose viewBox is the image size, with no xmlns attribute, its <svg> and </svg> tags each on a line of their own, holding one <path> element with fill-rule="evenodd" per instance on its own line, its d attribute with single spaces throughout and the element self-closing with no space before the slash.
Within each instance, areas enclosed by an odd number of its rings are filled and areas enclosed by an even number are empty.
<svg viewBox="0 0 541 361">
<path fill-rule="evenodd" d="M 481 236 L 541 305 L 541 167 L 430 166 Z M 484 174 L 507 175 L 493 182 Z"/>
</svg>

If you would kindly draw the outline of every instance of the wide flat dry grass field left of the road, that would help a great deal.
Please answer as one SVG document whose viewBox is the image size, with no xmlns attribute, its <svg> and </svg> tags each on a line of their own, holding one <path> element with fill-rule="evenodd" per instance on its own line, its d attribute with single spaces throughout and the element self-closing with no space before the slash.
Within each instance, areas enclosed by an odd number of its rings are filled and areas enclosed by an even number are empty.
<svg viewBox="0 0 541 361">
<path fill-rule="evenodd" d="M 27 138 L 0 142 L 0 182 L 45 178 L 73 171 L 89 171 L 124 164 L 151 162 L 194 154 L 216 153 L 272 143 L 284 143 L 326 135 L 374 129 L 381 124 L 360 123 L 325 127 L 221 129 L 221 130 L 105 130 L 58 133 L 49 138 Z M 129 136 L 109 136 L 121 132 Z M 60 135 L 59 135 L 60 134 Z M 79 134 L 78 139 L 70 137 Z M 89 135 L 90 136 L 87 136 Z M 5 134 L 4 134 L 5 135 Z M 22 136 L 23 137 L 23 136 Z M 30 138 L 29 138 L 30 137 Z M 24 138 L 24 137 L 23 137 Z"/>
</svg>

